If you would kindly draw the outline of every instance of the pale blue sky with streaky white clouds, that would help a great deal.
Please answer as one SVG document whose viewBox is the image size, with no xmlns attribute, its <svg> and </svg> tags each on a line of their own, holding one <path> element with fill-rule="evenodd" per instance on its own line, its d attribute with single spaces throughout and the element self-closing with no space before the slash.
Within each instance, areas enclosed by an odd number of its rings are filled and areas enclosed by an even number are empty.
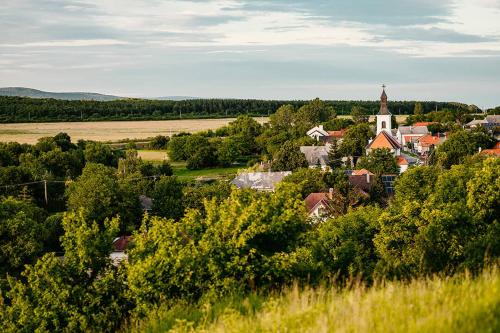
<svg viewBox="0 0 500 333">
<path fill-rule="evenodd" d="M 0 0 L 0 86 L 500 105 L 500 0 Z"/>
</svg>

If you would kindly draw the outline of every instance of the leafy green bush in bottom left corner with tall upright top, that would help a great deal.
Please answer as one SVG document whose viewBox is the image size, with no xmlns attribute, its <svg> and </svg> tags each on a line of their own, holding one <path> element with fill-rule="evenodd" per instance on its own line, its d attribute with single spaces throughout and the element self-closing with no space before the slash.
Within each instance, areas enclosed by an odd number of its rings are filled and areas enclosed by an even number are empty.
<svg viewBox="0 0 500 333">
<path fill-rule="evenodd" d="M 0 323 L 7 332 L 85 332 L 117 329 L 126 314 L 124 284 L 108 255 L 119 221 L 102 228 L 82 214 L 64 218 L 64 260 L 53 253 L 10 279 Z"/>
</svg>

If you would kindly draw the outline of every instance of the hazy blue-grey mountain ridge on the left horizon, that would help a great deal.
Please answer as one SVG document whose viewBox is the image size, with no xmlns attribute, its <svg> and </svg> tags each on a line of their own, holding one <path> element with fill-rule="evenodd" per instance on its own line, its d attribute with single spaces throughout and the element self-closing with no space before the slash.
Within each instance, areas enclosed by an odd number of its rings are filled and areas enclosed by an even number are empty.
<svg viewBox="0 0 500 333">
<path fill-rule="evenodd" d="M 118 99 L 127 99 L 130 97 L 120 97 L 114 95 L 105 95 L 91 92 L 49 92 L 25 87 L 5 87 L 0 88 L 0 96 L 17 96 L 30 98 L 53 98 L 67 101 L 116 101 Z M 166 96 L 155 98 L 141 99 L 156 99 L 156 100 L 172 100 L 182 101 L 189 99 L 198 99 L 197 97 L 189 96 Z"/>
</svg>

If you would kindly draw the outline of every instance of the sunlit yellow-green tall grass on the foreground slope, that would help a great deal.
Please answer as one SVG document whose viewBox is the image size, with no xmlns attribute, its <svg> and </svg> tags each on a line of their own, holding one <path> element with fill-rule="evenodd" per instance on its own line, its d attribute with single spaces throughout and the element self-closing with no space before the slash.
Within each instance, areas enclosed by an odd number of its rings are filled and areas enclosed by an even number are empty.
<svg viewBox="0 0 500 333">
<path fill-rule="evenodd" d="M 500 332 L 500 272 L 350 289 L 299 289 L 181 305 L 136 323 L 141 332 Z"/>
</svg>

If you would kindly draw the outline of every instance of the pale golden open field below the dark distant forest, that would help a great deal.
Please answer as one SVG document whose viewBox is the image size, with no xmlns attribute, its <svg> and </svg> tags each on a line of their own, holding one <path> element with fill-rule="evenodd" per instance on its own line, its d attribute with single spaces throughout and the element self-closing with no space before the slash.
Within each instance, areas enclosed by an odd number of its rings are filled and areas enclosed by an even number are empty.
<svg viewBox="0 0 500 333">
<path fill-rule="evenodd" d="M 215 130 L 233 120 L 234 118 L 0 124 L 0 142 L 16 141 L 33 144 L 41 137 L 54 136 L 59 132 L 68 133 L 74 142 L 80 139 L 94 141 L 145 139 L 159 134 Z M 256 118 L 256 120 L 262 122 L 267 121 L 267 118 Z"/>
</svg>

